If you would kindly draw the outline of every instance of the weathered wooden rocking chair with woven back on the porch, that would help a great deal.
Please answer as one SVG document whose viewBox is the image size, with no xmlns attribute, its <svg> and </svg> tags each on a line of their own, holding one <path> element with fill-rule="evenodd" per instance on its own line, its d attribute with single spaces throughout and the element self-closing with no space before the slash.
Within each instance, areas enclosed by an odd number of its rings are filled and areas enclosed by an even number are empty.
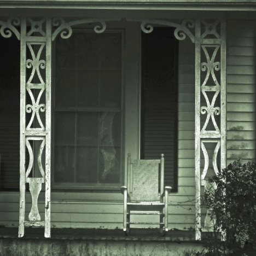
<svg viewBox="0 0 256 256">
<path fill-rule="evenodd" d="M 160 179 L 159 179 L 160 165 Z M 159 190 L 160 181 L 160 190 Z M 124 194 L 124 232 L 129 234 L 131 224 L 157 224 L 161 234 L 168 231 L 168 194 L 171 187 L 164 188 L 164 154 L 159 160 L 134 160 L 127 158 L 127 187 Z M 131 215 L 158 215 L 159 222 L 130 222 Z"/>
</svg>

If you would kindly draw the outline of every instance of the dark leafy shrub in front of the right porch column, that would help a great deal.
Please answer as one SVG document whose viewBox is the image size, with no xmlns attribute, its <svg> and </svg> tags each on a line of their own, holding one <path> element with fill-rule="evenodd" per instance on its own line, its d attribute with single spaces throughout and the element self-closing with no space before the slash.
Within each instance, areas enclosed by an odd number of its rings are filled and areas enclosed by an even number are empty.
<svg viewBox="0 0 256 256">
<path fill-rule="evenodd" d="M 250 251 L 256 249 L 255 167 L 235 161 L 210 178 L 217 188 L 206 191 L 205 204 L 211 209 L 214 232 L 196 255 L 254 255 Z"/>
</svg>

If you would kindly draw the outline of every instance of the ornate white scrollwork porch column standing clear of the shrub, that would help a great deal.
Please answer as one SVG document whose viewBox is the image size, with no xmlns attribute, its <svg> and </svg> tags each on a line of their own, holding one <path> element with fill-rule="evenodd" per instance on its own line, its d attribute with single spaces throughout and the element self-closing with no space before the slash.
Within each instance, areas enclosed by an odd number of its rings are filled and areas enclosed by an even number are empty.
<svg viewBox="0 0 256 256">
<path fill-rule="evenodd" d="M 51 19 L 22 18 L 20 28 L 20 221 L 25 226 L 44 226 L 50 237 L 51 157 Z M 26 184 L 32 206 L 25 217 Z M 38 211 L 38 196 L 45 190 L 45 215 Z"/>
</svg>

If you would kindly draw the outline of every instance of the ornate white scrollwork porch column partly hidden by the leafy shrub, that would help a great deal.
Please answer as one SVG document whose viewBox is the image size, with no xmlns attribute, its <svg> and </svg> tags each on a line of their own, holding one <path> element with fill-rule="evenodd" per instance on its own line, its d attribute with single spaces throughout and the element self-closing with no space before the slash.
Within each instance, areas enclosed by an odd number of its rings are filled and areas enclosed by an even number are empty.
<svg viewBox="0 0 256 256">
<path fill-rule="evenodd" d="M 225 20 L 195 25 L 195 179 L 196 240 L 201 225 L 201 189 L 207 172 L 218 174 L 226 166 L 226 27 Z M 217 117 L 219 118 L 217 119 Z M 202 162 L 204 167 L 201 168 Z M 204 189 L 204 188 L 203 188 Z M 203 191 L 203 190 L 202 190 Z"/>
</svg>

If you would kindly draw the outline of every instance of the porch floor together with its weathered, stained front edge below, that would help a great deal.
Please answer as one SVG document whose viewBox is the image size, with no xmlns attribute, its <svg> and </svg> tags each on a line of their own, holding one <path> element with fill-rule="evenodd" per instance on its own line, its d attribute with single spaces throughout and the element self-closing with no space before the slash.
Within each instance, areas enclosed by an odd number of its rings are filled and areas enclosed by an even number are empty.
<svg viewBox="0 0 256 256">
<path fill-rule="evenodd" d="M 189 256 L 202 249 L 195 242 L 194 230 L 170 230 L 161 236 L 157 229 L 132 229 L 129 236 L 114 229 L 51 229 L 51 238 L 42 228 L 25 228 L 18 238 L 18 228 L 0 228 L 0 255 L 161 255 Z"/>
</svg>

